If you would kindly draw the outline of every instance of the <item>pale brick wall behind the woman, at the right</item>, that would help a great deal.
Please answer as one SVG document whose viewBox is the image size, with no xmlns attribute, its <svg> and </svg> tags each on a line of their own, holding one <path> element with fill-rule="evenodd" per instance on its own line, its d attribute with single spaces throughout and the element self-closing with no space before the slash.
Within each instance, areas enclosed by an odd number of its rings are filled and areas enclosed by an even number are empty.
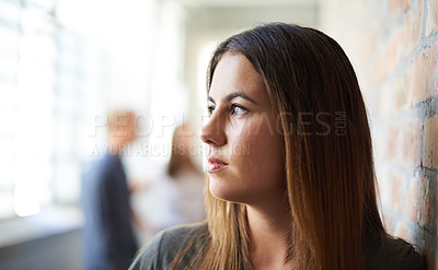
<svg viewBox="0 0 438 270">
<path fill-rule="evenodd" d="M 320 15 L 364 91 L 387 230 L 438 269 L 438 0 L 323 0 Z"/>
</svg>

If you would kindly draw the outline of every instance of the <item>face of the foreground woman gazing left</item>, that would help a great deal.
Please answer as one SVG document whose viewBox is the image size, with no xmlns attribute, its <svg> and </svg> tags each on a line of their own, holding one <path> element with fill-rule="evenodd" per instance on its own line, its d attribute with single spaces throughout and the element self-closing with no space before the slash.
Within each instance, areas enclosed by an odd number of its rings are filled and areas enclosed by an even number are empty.
<svg viewBox="0 0 438 270">
<path fill-rule="evenodd" d="M 241 54 L 226 52 L 209 92 L 210 192 L 218 199 L 256 204 L 284 198 L 283 136 L 261 75 Z"/>
</svg>

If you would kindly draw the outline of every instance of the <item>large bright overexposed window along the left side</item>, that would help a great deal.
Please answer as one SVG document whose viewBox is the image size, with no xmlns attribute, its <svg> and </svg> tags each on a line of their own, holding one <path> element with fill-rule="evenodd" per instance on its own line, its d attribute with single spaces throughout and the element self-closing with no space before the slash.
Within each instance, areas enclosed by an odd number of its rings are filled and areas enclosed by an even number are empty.
<svg viewBox="0 0 438 270">
<path fill-rule="evenodd" d="M 100 54 L 54 8 L 0 1 L 0 219 L 79 197 L 85 91 L 103 81 Z"/>
</svg>

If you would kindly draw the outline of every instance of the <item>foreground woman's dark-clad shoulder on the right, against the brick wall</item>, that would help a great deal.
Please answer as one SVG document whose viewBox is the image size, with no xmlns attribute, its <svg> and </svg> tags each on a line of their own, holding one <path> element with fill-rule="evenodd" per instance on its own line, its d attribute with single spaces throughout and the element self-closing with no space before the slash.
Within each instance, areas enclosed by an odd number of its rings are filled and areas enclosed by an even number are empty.
<svg viewBox="0 0 438 270">
<path fill-rule="evenodd" d="M 366 269 L 425 270 L 425 258 L 407 242 L 390 236 L 368 237 L 365 246 Z"/>
</svg>

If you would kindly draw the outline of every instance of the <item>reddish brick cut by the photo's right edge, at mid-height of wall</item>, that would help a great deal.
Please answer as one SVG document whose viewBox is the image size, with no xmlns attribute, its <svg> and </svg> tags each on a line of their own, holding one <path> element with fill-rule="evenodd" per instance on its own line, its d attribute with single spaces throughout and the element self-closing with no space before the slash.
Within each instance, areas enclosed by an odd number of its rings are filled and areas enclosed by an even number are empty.
<svg viewBox="0 0 438 270">
<path fill-rule="evenodd" d="M 425 121 L 425 153 L 423 166 L 438 168 L 438 115 Z"/>
</svg>

